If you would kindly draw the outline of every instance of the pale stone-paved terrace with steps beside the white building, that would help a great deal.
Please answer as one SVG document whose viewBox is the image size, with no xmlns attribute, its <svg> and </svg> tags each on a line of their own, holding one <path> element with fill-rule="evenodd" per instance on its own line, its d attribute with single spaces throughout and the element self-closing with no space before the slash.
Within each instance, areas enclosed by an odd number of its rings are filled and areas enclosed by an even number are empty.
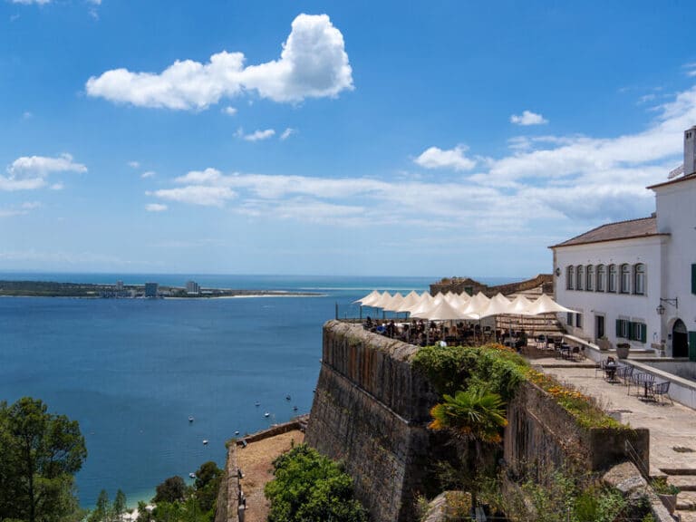
<svg viewBox="0 0 696 522">
<path fill-rule="evenodd" d="M 531 363 L 596 398 L 617 420 L 649 429 L 651 476 L 667 475 L 669 482 L 681 488 L 677 506 L 681 520 L 696 522 L 696 411 L 669 399 L 644 401 L 634 386 L 629 394 L 623 383 L 605 381 L 604 372 L 595 371 L 592 361 L 550 357 Z"/>
</svg>

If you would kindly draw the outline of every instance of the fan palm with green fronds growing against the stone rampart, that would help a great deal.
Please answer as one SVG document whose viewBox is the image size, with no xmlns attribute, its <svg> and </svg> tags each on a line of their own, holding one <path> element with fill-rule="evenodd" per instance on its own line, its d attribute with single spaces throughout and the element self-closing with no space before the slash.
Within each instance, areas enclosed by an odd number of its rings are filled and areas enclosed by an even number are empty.
<svg viewBox="0 0 696 522">
<path fill-rule="evenodd" d="M 454 397 L 443 395 L 444 401 L 430 410 L 432 430 L 452 430 L 459 439 L 474 444 L 473 459 L 470 459 L 470 446 L 467 451 L 469 471 L 486 467 L 486 456 L 494 452 L 484 452 L 484 445 L 500 442 L 500 430 L 507 426 L 505 402 L 498 393 L 486 390 L 469 389 L 457 391 Z M 488 459 L 489 461 L 490 459 Z M 476 473 L 466 480 L 471 493 L 472 506 L 477 505 L 478 481 Z"/>
</svg>

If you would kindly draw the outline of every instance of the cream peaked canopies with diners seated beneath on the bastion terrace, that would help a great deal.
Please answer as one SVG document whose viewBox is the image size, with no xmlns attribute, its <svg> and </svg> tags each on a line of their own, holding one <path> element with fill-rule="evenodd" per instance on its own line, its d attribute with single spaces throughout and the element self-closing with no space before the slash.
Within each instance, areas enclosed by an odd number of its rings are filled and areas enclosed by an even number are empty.
<svg viewBox="0 0 696 522">
<path fill-rule="evenodd" d="M 404 296 L 399 292 L 391 295 L 386 291 L 381 294 L 374 290 L 354 303 L 361 305 L 361 316 L 363 306 L 382 310 L 382 320 L 375 321 L 372 317 L 367 317 L 364 323 L 366 329 L 420 345 L 489 341 L 504 343 L 506 336 L 512 333 L 505 329 L 495 330 L 490 326 L 482 326 L 482 319 L 498 315 L 574 312 L 544 294 L 535 301 L 530 301 L 524 295 L 517 295 L 510 301 L 502 294 L 489 298 L 480 292 L 473 296 L 449 292 L 433 297 L 428 292 L 419 295 L 412 291 Z M 387 320 L 387 312 L 396 314 L 397 319 Z M 398 319 L 400 313 L 408 315 L 410 320 Z M 511 336 L 512 339 L 508 341 L 510 345 L 518 348 L 527 344 L 527 333 L 524 329 Z"/>
</svg>

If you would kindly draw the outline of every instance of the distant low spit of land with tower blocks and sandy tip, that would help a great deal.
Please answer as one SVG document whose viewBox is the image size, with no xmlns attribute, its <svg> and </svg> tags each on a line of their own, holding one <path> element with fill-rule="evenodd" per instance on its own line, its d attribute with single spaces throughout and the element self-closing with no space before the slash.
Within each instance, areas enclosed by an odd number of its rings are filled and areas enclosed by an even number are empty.
<svg viewBox="0 0 696 522">
<path fill-rule="evenodd" d="M 197 285 L 198 288 L 198 285 Z M 317 292 L 232 288 L 199 288 L 155 285 L 148 295 L 146 285 L 102 285 L 93 283 L 57 283 L 54 281 L 0 281 L 0 297 L 73 297 L 81 299 L 220 299 L 242 297 L 320 297 Z"/>
</svg>

